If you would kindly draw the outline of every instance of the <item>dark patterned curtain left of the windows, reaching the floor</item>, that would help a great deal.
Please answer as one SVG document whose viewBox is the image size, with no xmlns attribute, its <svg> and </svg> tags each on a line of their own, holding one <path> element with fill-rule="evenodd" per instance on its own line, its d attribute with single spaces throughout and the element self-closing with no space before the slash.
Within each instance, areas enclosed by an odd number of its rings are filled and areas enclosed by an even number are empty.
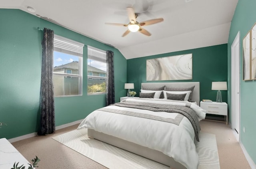
<svg viewBox="0 0 256 169">
<path fill-rule="evenodd" d="M 55 131 L 54 94 L 52 83 L 54 31 L 44 28 L 42 40 L 42 74 L 40 89 L 41 123 L 38 135 Z"/>
</svg>

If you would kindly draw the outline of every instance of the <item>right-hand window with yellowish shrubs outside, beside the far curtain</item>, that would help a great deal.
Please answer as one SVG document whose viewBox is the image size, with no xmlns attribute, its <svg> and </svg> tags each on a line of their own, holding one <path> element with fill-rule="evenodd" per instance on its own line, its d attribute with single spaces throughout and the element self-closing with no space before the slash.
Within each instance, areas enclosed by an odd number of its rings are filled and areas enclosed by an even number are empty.
<svg viewBox="0 0 256 169">
<path fill-rule="evenodd" d="M 106 51 L 88 46 L 87 93 L 106 93 Z"/>
</svg>

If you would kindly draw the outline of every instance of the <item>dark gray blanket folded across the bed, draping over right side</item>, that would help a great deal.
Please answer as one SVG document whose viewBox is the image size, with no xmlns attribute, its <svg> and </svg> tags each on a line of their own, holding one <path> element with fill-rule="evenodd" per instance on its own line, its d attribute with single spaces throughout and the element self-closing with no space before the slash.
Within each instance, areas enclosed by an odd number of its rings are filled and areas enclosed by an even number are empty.
<svg viewBox="0 0 256 169">
<path fill-rule="evenodd" d="M 186 104 L 186 106 L 179 106 L 179 105 L 168 105 L 168 104 L 122 101 L 120 103 L 114 103 L 112 105 L 116 105 L 120 107 L 136 108 L 136 109 L 145 109 L 145 110 L 156 111 L 156 112 L 164 111 L 168 113 L 182 114 L 185 117 L 187 117 L 190 123 L 192 124 L 194 128 L 196 140 L 199 141 L 198 134 L 201 128 L 199 125 L 198 116 L 196 115 L 196 112 L 190 108 L 191 103 Z"/>
</svg>

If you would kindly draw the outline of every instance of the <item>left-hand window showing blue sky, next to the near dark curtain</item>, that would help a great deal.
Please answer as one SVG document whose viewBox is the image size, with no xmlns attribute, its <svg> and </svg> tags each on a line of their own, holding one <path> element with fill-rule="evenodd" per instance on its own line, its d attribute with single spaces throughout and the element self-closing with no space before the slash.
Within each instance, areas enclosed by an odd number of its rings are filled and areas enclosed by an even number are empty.
<svg viewBox="0 0 256 169">
<path fill-rule="evenodd" d="M 54 35 L 54 96 L 82 95 L 83 46 Z"/>
</svg>

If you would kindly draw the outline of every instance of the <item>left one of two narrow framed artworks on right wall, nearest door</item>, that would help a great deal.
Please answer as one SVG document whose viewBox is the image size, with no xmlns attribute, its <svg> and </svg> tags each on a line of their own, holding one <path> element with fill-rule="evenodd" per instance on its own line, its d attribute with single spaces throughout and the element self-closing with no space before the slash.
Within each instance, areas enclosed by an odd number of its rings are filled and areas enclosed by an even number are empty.
<svg viewBox="0 0 256 169">
<path fill-rule="evenodd" d="M 243 80 L 251 80 L 250 74 L 250 31 L 243 39 Z"/>
</svg>

